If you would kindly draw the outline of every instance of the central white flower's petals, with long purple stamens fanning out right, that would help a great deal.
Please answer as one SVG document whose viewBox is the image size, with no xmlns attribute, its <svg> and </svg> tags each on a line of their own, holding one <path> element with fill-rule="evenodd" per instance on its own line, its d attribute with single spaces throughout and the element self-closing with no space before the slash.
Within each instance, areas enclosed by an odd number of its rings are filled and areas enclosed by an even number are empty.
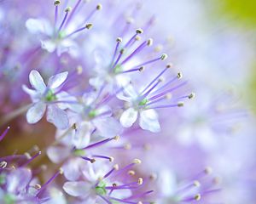
<svg viewBox="0 0 256 204">
<path fill-rule="evenodd" d="M 139 125 L 144 130 L 149 130 L 153 133 L 160 132 L 160 122 L 158 114 L 153 109 L 148 109 L 147 99 L 141 99 L 136 90 L 131 86 L 127 86 L 123 93 L 117 95 L 119 99 L 125 100 L 129 106 L 120 117 L 120 122 L 123 127 L 131 127 L 137 121 L 139 116 Z"/>
</svg>

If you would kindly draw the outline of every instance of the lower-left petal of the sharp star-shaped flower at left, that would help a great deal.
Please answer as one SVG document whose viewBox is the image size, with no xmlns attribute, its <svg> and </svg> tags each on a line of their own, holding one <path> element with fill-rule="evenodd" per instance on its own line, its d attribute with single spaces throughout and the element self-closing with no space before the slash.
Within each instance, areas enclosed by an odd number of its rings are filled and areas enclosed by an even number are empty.
<svg viewBox="0 0 256 204">
<path fill-rule="evenodd" d="M 44 112 L 46 109 L 46 105 L 43 102 L 38 102 L 26 112 L 26 121 L 28 123 L 36 123 L 42 119 L 44 116 Z"/>
</svg>

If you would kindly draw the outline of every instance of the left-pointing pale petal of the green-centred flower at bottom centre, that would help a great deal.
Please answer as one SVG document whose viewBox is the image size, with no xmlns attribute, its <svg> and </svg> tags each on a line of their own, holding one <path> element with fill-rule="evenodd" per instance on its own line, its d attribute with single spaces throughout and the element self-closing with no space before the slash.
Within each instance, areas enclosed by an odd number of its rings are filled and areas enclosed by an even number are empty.
<svg viewBox="0 0 256 204">
<path fill-rule="evenodd" d="M 90 192 L 92 185 L 83 181 L 66 182 L 63 185 L 63 190 L 68 195 L 72 196 L 86 196 Z"/>
</svg>

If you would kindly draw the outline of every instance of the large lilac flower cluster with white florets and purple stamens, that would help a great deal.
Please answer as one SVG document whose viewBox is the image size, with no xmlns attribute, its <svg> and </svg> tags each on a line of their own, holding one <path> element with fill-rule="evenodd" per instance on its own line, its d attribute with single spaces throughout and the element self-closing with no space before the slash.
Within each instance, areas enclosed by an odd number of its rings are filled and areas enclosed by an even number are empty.
<svg viewBox="0 0 256 204">
<path fill-rule="evenodd" d="M 0 156 L 1 203 L 222 203 L 216 152 L 249 114 L 183 78 L 139 1 L 0 4 L 0 127 L 40 147 Z"/>
</svg>

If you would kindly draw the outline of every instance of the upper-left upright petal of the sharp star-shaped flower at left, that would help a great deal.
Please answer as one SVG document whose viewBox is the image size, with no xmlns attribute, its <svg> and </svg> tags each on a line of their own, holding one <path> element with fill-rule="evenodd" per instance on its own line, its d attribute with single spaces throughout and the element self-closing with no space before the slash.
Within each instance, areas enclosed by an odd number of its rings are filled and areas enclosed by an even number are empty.
<svg viewBox="0 0 256 204">
<path fill-rule="evenodd" d="M 41 77 L 38 71 L 32 70 L 29 73 L 29 82 L 32 85 L 32 88 L 35 88 L 41 94 L 44 94 L 46 89 L 46 85 L 44 83 L 44 79 Z"/>
</svg>

